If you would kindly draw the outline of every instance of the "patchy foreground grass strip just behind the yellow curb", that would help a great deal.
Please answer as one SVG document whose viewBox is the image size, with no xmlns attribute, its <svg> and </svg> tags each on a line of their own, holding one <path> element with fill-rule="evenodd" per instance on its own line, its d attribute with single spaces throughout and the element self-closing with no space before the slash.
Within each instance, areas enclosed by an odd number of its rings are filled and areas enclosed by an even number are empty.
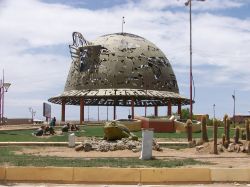
<svg viewBox="0 0 250 187">
<path fill-rule="evenodd" d="M 57 167 L 180 167 L 186 165 L 209 164 L 191 158 L 188 159 L 153 159 L 143 161 L 138 158 L 63 158 L 55 156 L 34 156 L 28 154 L 17 155 L 14 151 L 20 147 L 0 147 L 0 165 L 10 166 L 57 166 Z M 74 150 L 72 150 L 74 151 Z"/>
</svg>

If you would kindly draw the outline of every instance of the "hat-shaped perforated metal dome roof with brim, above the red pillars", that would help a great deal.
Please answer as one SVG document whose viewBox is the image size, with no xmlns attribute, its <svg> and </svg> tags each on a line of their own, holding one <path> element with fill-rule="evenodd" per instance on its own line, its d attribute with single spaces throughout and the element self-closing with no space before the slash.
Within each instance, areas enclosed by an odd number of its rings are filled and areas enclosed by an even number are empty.
<svg viewBox="0 0 250 187">
<path fill-rule="evenodd" d="M 108 34 L 88 42 L 73 33 L 72 64 L 64 92 L 49 99 L 67 105 L 187 105 L 179 95 L 175 74 L 163 52 L 150 41 L 129 33 Z"/>
</svg>

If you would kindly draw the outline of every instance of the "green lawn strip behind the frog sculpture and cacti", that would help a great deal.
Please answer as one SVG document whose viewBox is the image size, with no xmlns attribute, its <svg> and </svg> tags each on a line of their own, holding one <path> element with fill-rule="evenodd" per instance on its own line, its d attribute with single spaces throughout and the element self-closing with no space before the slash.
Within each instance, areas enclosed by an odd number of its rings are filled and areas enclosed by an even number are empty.
<svg viewBox="0 0 250 187">
<path fill-rule="evenodd" d="M 46 141 L 46 142 L 63 142 L 68 141 L 68 134 L 63 133 L 62 135 L 54 135 L 48 138 L 40 138 L 32 135 L 34 130 L 13 130 L 13 131 L 0 131 L 0 142 L 7 142 L 7 141 Z M 218 137 L 220 138 L 223 134 L 223 128 L 218 129 Z M 135 135 L 141 137 L 141 131 L 135 132 Z M 81 131 L 75 132 L 75 135 L 78 137 L 103 137 L 103 126 L 84 126 L 81 127 Z M 234 130 L 230 131 L 230 136 L 233 138 Z M 166 138 L 166 139 L 178 139 L 187 138 L 186 133 L 154 133 L 155 138 Z M 200 138 L 201 133 L 193 133 L 193 138 Z M 208 127 L 208 137 L 211 139 L 213 137 L 213 129 Z"/>
</svg>

